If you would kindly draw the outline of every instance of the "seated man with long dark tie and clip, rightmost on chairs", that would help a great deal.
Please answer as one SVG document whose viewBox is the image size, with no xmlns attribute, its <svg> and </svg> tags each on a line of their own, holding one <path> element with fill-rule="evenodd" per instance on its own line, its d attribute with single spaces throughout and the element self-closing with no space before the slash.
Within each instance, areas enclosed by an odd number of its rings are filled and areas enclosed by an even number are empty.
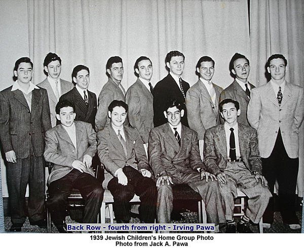
<svg viewBox="0 0 304 248">
<path fill-rule="evenodd" d="M 272 197 L 261 174 L 257 133 L 238 123 L 240 104 L 232 99 L 219 103 L 225 123 L 211 127 L 204 137 L 204 164 L 216 175 L 225 208 L 226 233 L 252 233 L 249 221 L 258 223 Z M 249 198 L 245 215 L 236 226 L 233 218 L 234 198 L 239 188 Z"/>
</svg>

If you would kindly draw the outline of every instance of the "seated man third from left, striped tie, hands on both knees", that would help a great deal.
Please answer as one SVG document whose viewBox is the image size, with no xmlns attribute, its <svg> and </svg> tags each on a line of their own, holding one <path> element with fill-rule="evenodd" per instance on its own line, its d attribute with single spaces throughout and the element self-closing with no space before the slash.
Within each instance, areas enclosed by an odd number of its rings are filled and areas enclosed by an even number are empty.
<svg viewBox="0 0 304 248">
<path fill-rule="evenodd" d="M 200 157 L 197 132 L 181 124 L 184 110 L 176 100 L 168 101 L 164 115 L 168 122 L 151 130 L 148 147 L 150 165 L 157 179 L 158 223 L 171 221 L 172 187 L 176 184 L 187 184 L 200 193 L 206 204 L 208 223 L 225 222 L 215 176 L 205 170 Z"/>
</svg>

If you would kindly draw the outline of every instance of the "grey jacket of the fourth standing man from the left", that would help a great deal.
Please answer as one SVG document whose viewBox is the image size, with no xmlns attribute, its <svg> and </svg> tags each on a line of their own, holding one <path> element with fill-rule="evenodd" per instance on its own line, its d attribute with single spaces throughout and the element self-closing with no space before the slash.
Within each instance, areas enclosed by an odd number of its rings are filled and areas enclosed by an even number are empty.
<svg viewBox="0 0 304 248">
<path fill-rule="evenodd" d="M 109 78 L 102 87 L 98 97 L 98 110 L 95 117 L 96 131 L 99 131 L 110 124 L 108 107 L 113 100 L 125 101 L 125 95 L 121 88 Z M 128 124 L 128 119 L 126 119 L 125 125 L 127 126 Z"/>
</svg>

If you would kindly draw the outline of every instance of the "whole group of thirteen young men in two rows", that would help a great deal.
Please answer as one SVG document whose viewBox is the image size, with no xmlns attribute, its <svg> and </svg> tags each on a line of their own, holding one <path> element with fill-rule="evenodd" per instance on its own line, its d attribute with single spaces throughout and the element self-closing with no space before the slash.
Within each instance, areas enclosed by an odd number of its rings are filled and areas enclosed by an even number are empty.
<svg viewBox="0 0 304 248">
<path fill-rule="evenodd" d="M 166 55 L 168 75 L 155 85 L 152 61 L 140 56 L 138 78 L 127 91 L 123 60 L 112 56 L 98 100 L 88 90 L 90 69 L 75 66 L 70 83 L 60 78 L 61 62 L 48 53 L 47 78 L 34 85 L 33 63 L 22 57 L 14 66 L 15 83 L 0 92 L 9 231 L 22 232 L 27 217 L 30 225 L 46 228 L 48 208 L 58 232 L 70 232 L 65 206 L 73 189 L 85 201 L 82 223 L 98 222 L 104 190 L 113 196 L 116 223 L 130 223 L 135 194 L 140 223 L 171 223 L 173 187 L 181 184 L 200 194 L 215 232 L 252 233 L 261 218 L 269 229 L 275 207 L 285 225 L 300 229 L 295 192 L 304 93 L 285 80 L 282 54 L 269 57 L 271 80 L 255 87 L 248 82 L 249 60 L 236 53 L 229 64 L 234 81 L 225 89 L 212 80 L 209 56 L 197 62 L 199 79 L 191 87 L 181 77 L 180 51 Z M 47 178 L 46 162 L 53 164 Z M 93 171 L 100 165 L 103 182 Z M 240 220 L 234 218 L 237 190 L 248 199 Z"/>
</svg>

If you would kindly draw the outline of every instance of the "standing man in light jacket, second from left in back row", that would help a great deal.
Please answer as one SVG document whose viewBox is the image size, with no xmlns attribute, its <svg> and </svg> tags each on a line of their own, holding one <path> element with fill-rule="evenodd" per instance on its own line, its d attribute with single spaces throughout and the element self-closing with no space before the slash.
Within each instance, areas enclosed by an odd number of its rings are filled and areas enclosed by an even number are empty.
<svg viewBox="0 0 304 248">
<path fill-rule="evenodd" d="M 47 78 L 37 86 L 48 91 L 51 123 L 52 127 L 56 126 L 56 112 L 55 107 L 61 95 L 70 91 L 73 84 L 65 81 L 60 77 L 61 73 L 61 58 L 55 53 L 48 53 L 44 60 L 44 72 Z"/>
</svg>

